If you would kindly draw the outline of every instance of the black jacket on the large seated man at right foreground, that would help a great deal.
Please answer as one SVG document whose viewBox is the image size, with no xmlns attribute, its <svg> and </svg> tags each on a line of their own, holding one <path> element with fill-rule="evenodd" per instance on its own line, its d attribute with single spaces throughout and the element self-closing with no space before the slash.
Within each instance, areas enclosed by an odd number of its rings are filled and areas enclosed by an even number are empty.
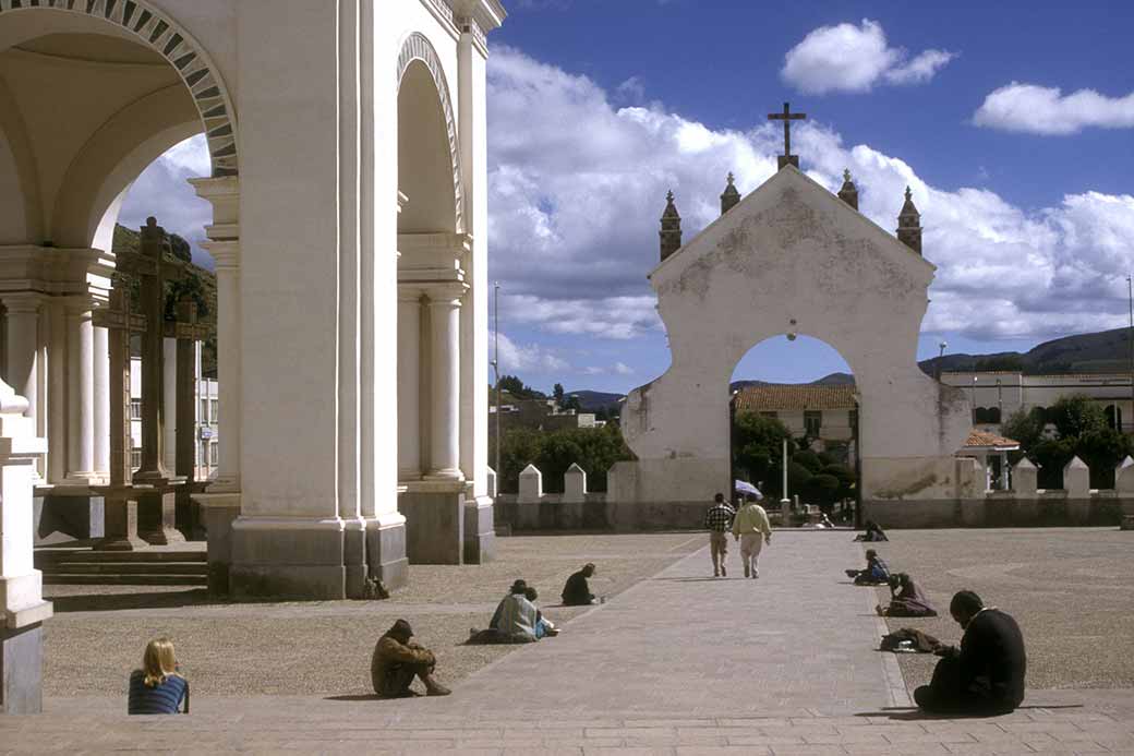
<svg viewBox="0 0 1134 756">
<path fill-rule="evenodd" d="M 1024 700 L 1027 656 L 1019 625 L 997 608 L 982 610 L 960 639 L 960 690 L 991 708 L 1012 709 Z"/>
</svg>

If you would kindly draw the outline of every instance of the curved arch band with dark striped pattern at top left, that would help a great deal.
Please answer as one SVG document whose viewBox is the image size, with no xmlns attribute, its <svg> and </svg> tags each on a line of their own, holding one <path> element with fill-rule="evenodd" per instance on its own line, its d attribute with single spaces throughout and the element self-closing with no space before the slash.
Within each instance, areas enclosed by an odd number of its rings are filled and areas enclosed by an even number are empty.
<svg viewBox="0 0 1134 756">
<path fill-rule="evenodd" d="M 189 89 L 209 140 L 213 177 L 236 176 L 236 115 L 208 53 L 188 32 L 145 0 L 0 0 L 7 12 L 71 12 L 115 24 L 169 61 Z"/>
</svg>

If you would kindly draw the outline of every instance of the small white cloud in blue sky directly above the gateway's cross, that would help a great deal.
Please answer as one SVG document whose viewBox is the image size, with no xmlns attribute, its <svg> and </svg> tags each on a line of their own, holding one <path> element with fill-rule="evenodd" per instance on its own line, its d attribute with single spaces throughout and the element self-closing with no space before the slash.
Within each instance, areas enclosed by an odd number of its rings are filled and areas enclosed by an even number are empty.
<svg viewBox="0 0 1134 756">
<path fill-rule="evenodd" d="M 801 92 L 869 92 L 875 84 L 921 84 L 956 53 L 925 50 L 914 58 L 891 48 L 878 22 L 820 26 L 787 51 L 780 76 Z"/>
</svg>

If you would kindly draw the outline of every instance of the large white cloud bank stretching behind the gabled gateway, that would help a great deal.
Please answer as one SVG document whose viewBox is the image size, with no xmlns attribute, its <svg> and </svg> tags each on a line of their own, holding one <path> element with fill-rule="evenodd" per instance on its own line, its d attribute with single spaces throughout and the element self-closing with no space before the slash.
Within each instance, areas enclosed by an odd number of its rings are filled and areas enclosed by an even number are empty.
<svg viewBox="0 0 1134 756">
<path fill-rule="evenodd" d="M 660 330 L 645 276 L 658 264 L 666 191 L 687 242 L 719 216 L 726 174 L 752 191 L 776 170 L 780 145 L 767 124 L 721 129 L 660 104 L 617 108 L 593 81 L 507 48 L 489 59 L 489 109 L 490 264 L 506 293 L 502 318 L 557 335 Z M 991 191 L 933 186 L 906 160 L 846 145 L 829 127 L 806 123 L 793 135 L 804 169 L 831 191 L 850 169 L 863 213 L 887 230 L 912 187 L 925 257 L 938 266 L 925 330 L 1047 338 L 1124 324 L 1131 195 L 1083 192 L 1024 209 Z"/>
</svg>

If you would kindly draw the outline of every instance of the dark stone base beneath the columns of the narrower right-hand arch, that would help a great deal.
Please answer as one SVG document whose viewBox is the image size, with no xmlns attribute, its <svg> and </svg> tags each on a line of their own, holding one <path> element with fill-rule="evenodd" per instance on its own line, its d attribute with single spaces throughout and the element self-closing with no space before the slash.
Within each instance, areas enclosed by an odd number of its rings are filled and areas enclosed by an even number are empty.
<svg viewBox="0 0 1134 756">
<path fill-rule="evenodd" d="M 455 485 L 456 484 L 456 485 Z M 408 484 L 398 497 L 411 564 L 464 564 L 465 486 L 454 480 Z"/>
</svg>

